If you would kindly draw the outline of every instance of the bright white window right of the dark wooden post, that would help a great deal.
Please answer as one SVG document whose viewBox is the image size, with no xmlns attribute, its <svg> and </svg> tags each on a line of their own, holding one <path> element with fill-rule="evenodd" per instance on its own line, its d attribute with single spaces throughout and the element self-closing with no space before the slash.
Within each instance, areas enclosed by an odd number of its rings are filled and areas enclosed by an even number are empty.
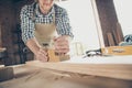
<svg viewBox="0 0 132 88">
<path fill-rule="evenodd" d="M 132 0 L 113 0 L 123 35 L 132 34 Z"/>
</svg>

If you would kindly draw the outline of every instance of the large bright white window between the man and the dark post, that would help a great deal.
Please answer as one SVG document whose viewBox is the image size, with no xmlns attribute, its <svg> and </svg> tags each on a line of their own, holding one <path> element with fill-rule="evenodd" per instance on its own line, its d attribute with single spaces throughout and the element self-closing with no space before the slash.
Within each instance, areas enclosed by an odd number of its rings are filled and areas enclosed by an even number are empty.
<svg viewBox="0 0 132 88">
<path fill-rule="evenodd" d="M 75 35 L 74 43 L 81 43 L 84 52 L 99 48 L 99 40 L 90 0 L 67 0 L 58 2 L 68 11 Z"/>
</svg>

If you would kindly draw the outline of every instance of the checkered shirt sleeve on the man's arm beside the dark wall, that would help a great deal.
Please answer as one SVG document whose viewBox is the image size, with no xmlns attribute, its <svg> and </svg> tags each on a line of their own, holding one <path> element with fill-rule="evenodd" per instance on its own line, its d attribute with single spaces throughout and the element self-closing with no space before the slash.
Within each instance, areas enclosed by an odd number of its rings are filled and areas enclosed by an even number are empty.
<svg viewBox="0 0 132 88">
<path fill-rule="evenodd" d="M 34 22 L 31 19 L 31 11 L 28 6 L 23 7 L 21 9 L 20 19 L 21 19 L 21 31 L 22 31 L 22 40 L 24 43 L 28 42 L 28 40 L 34 37 Z"/>
</svg>

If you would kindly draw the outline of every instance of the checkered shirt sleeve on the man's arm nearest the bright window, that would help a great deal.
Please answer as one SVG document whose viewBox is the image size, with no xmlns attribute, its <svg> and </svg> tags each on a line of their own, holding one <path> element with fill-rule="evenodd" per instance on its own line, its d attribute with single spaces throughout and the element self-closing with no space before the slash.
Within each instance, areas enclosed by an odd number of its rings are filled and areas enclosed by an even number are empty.
<svg viewBox="0 0 132 88">
<path fill-rule="evenodd" d="M 73 30 L 69 23 L 69 18 L 65 9 L 62 10 L 59 16 L 57 16 L 57 32 L 61 35 L 69 35 L 74 37 Z"/>
</svg>

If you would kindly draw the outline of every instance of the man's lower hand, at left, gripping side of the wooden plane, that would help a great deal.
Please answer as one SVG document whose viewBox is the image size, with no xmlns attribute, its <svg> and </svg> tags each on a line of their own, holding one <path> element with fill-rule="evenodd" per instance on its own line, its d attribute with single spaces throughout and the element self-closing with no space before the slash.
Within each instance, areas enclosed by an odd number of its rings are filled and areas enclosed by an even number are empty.
<svg viewBox="0 0 132 88">
<path fill-rule="evenodd" d="M 35 54 L 36 59 L 45 63 L 48 61 L 47 52 L 44 51 L 42 47 Z"/>
</svg>

